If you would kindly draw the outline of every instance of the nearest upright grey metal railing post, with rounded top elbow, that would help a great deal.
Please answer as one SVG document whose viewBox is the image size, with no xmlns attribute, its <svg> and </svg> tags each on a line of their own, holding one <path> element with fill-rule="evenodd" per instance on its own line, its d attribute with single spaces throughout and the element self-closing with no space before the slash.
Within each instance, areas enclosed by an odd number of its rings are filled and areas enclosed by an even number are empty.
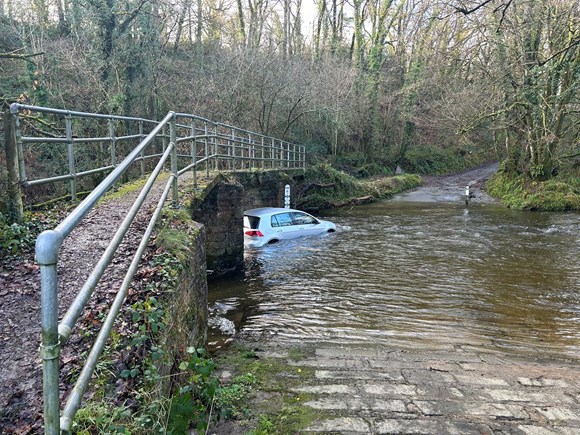
<svg viewBox="0 0 580 435">
<path fill-rule="evenodd" d="M 42 382 L 44 398 L 44 432 L 60 434 L 58 293 L 57 262 L 62 236 L 57 231 L 44 231 L 36 240 L 36 261 L 40 265 L 40 301 L 42 344 Z"/>
</svg>

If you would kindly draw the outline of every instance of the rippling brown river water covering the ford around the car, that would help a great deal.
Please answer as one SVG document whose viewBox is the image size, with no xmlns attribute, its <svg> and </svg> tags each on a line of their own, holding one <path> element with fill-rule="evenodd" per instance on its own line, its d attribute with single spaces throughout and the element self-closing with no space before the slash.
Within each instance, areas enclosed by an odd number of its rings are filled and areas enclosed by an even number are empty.
<svg viewBox="0 0 580 435">
<path fill-rule="evenodd" d="M 210 283 L 214 341 L 487 346 L 580 357 L 580 216 L 381 202 L 246 252 Z M 221 331 L 221 332 L 220 332 Z"/>
</svg>

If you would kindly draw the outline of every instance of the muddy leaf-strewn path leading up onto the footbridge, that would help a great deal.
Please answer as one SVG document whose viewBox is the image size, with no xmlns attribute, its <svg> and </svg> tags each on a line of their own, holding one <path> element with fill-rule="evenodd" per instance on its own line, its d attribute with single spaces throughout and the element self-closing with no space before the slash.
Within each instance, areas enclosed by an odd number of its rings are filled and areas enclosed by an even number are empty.
<svg viewBox="0 0 580 435">
<path fill-rule="evenodd" d="M 90 301 L 92 312 L 106 312 L 124 278 L 165 181 L 153 187 L 142 211 L 119 247 Z M 65 240 L 59 254 L 59 314 L 74 299 L 139 194 L 105 200 Z M 40 272 L 30 254 L 0 271 L 0 433 L 42 431 L 40 342 Z M 61 361 L 81 362 L 86 344 L 78 335 L 62 349 Z M 65 393 L 63 387 L 61 395 Z"/>
</svg>

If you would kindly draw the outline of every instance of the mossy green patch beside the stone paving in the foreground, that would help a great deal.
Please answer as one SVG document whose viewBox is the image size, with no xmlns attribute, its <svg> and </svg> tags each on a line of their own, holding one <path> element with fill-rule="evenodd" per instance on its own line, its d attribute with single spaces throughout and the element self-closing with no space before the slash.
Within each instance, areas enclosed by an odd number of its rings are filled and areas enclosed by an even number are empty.
<svg viewBox="0 0 580 435">
<path fill-rule="evenodd" d="M 323 410 L 306 405 L 309 394 L 294 388 L 315 382 L 315 369 L 300 367 L 299 361 L 308 356 L 308 350 L 290 348 L 285 355 L 267 356 L 245 344 L 236 343 L 216 356 L 222 373 L 228 376 L 251 374 L 253 387 L 247 412 L 235 422 L 222 424 L 217 433 L 235 432 L 254 435 L 301 433 L 311 424 L 329 417 Z"/>
</svg>

